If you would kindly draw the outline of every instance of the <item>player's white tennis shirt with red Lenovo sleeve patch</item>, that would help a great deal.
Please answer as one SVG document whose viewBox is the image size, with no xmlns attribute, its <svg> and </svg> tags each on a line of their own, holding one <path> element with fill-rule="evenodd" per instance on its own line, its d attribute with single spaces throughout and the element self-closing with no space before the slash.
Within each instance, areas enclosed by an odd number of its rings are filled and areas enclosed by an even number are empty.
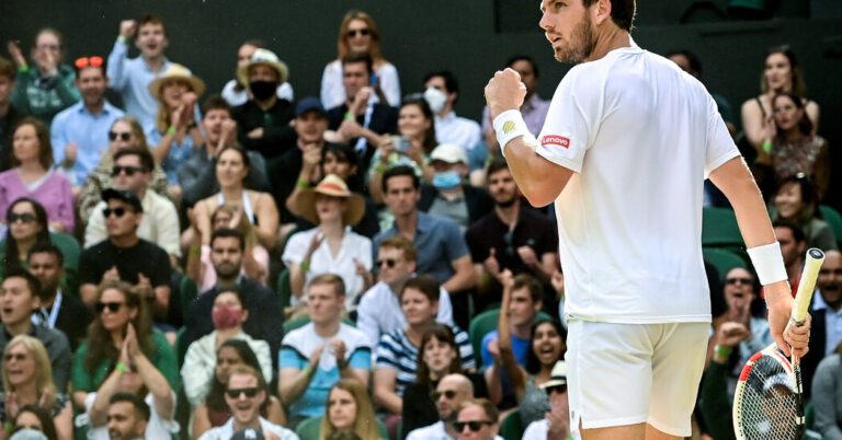
<svg viewBox="0 0 842 440">
<path fill-rule="evenodd" d="M 555 204 L 568 316 L 709 322 L 703 184 L 739 151 L 704 85 L 633 42 L 567 73 L 538 143 L 574 172 Z"/>
</svg>

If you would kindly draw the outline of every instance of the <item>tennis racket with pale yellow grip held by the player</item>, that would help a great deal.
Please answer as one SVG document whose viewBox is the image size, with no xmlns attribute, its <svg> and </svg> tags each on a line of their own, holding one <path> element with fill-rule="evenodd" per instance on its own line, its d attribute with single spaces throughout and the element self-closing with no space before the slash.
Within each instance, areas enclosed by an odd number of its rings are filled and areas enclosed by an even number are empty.
<svg viewBox="0 0 842 440">
<path fill-rule="evenodd" d="M 793 303 L 792 321 L 804 324 L 824 253 L 807 251 Z M 801 370 L 775 344 L 754 354 L 740 372 L 733 396 L 733 431 L 738 440 L 800 440 L 804 435 Z"/>
</svg>

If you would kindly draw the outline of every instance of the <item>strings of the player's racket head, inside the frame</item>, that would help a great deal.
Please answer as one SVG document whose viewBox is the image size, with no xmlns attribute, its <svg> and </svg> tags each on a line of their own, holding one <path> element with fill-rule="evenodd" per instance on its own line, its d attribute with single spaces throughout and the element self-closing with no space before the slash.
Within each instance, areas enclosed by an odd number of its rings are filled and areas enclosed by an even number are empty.
<svg viewBox="0 0 842 440">
<path fill-rule="evenodd" d="M 746 383 L 738 427 L 748 440 L 800 439 L 800 400 L 790 374 L 770 356 L 760 357 Z"/>
</svg>

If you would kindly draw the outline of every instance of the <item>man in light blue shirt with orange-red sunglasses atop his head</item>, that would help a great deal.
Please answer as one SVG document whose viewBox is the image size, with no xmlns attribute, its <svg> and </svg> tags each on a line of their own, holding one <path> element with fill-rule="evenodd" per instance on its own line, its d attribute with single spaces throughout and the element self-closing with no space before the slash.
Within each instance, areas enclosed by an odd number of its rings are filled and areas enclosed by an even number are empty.
<svg viewBox="0 0 842 440">
<path fill-rule="evenodd" d="M 100 163 L 109 147 L 109 130 L 124 113 L 105 100 L 109 78 L 102 57 L 79 58 L 73 67 L 82 101 L 56 115 L 49 132 L 55 163 L 80 187 Z"/>
</svg>

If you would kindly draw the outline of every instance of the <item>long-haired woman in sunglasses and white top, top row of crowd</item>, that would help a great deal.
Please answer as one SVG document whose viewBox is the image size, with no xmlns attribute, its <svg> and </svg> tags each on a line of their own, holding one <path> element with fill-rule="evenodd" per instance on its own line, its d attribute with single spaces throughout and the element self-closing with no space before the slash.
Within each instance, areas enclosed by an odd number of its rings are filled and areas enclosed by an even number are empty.
<svg viewBox="0 0 842 440">
<path fill-rule="evenodd" d="M 363 11 L 349 11 L 339 26 L 337 40 L 338 56 L 325 67 L 321 77 L 321 105 L 333 108 L 348 100 L 345 86 L 342 84 L 342 57 L 352 51 L 365 53 L 374 61 L 372 85 L 379 89 L 378 95 L 386 99 L 388 105 L 397 107 L 400 104 L 400 80 L 398 69 L 380 54 L 380 33 L 374 19 Z"/>
</svg>

